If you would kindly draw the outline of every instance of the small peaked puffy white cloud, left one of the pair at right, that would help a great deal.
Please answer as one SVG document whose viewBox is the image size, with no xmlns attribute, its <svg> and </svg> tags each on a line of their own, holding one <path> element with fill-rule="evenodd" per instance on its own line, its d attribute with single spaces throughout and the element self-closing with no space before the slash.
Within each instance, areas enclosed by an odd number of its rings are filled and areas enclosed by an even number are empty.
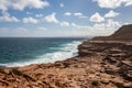
<svg viewBox="0 0 132 88">
<path fill-rule="evenodd" d="M 90 16 L 90 21 L 91 22 L 103 22 L 105 21 L 105 18 L 101 16 L 98 12 L 96 12 L 95 14 L 92 14 Z"/>
</svg>

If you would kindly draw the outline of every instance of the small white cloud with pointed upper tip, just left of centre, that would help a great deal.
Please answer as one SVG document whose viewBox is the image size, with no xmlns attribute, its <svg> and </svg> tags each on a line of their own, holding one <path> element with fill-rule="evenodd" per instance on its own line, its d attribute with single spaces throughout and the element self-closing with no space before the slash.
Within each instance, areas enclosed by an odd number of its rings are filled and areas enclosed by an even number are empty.
<svg viewBox="0 0 132 88">
<path fill-rule="evenodd" d="M 45 16 L 44 20 L 46 22 L 50 22 L 50 23 L 52 23 L 52 22 L 53 23 L 58 23 L 58 20 L 56 19 L 56 13 L 55 12 L 53 12 L 52 14 Z"/>
</svg>

